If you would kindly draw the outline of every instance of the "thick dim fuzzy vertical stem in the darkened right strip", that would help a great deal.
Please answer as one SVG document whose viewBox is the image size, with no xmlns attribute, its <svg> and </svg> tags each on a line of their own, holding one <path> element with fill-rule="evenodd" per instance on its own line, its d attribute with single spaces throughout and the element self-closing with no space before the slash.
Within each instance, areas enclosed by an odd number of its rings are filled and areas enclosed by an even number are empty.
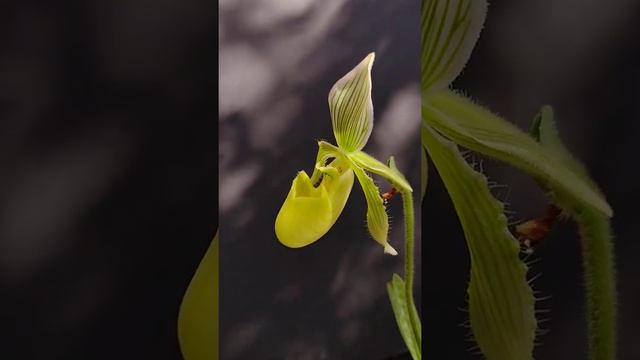
<svg viewBox="0 0 640 360">
<path fill-rule="evenodd" d="M 585 273 L 589 359 L 616 355 L 616 287 L 609 219 L 590 209 L 577 215 Z"/>
</svg>

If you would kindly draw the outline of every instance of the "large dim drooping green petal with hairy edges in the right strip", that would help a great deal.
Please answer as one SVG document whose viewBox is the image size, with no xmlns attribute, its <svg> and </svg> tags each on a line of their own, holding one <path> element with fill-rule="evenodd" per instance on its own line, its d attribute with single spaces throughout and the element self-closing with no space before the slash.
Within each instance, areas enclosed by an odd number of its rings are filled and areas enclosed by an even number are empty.
<svg viewBox="0 0 640 360">
<path fill-rule="evenodd" d="M 536 319 L 527 266 L 507 227 L 503 204 L 489 191 L 457 146 L 424 126 L 423 138 L 462 224 L 471 258 L 468 288 L 471 329 L 490 360 L 530 360 Z"/>
</svg>

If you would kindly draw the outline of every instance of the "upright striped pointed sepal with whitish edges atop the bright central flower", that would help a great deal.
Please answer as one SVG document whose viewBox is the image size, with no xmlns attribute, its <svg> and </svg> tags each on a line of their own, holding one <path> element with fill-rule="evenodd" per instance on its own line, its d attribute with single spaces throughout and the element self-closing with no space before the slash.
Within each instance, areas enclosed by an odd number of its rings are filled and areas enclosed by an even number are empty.
<svg viewBox="0 0 640 360">
<path fill-rule="evenodd" d="M 373 129 L 370 53 L 329 91 L 329 111 L 338 146 L 346 152 L 364 147 Z"/>
</svg>

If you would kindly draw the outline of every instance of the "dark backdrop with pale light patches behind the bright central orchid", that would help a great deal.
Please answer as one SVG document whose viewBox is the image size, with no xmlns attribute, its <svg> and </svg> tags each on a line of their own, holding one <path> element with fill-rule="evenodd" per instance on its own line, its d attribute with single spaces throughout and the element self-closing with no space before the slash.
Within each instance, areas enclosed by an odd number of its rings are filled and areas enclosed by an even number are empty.
<svg viewBox="0 0 640 360">
<path fill-rule="evenodd" d="M 335 143 L 331 86 L 371 51 L 375 120 L 365 151 L 382 161 L 395 155 L 419 193 L 419 36 L 417 1 L 220 2 L 223 359 L 375 360 L 404 351 L 385 287 L 402 274 L 400 196 L 388 207 L 397 257 L 368 234 L 357 181 L 316 243 L 286 248 L 274 223 L 296 173 L 311 174 L 317 140 Z"/>
</svg>

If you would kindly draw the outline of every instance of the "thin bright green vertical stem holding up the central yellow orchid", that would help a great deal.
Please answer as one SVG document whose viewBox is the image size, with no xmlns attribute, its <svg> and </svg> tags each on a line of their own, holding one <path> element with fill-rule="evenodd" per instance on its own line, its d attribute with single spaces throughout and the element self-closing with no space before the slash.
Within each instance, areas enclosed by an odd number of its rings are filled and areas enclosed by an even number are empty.
<svg viewBox="0 0 640 360">
<path fill-rule="evenodd" d="M 407 299 L 407 312 L 411 320 L 413 333 L 416 335 L 418 344 L 422 348 L 422 327 L 420 326 L 420 318 L 416 305 L 413 300 L 413 273 L 414 273 L 414 214 L 413 214 L 413 196 L 410 191 L 402 191 L 402 208 L 404 211 L 404 284 L 405 297 Z"/>
</svg>

